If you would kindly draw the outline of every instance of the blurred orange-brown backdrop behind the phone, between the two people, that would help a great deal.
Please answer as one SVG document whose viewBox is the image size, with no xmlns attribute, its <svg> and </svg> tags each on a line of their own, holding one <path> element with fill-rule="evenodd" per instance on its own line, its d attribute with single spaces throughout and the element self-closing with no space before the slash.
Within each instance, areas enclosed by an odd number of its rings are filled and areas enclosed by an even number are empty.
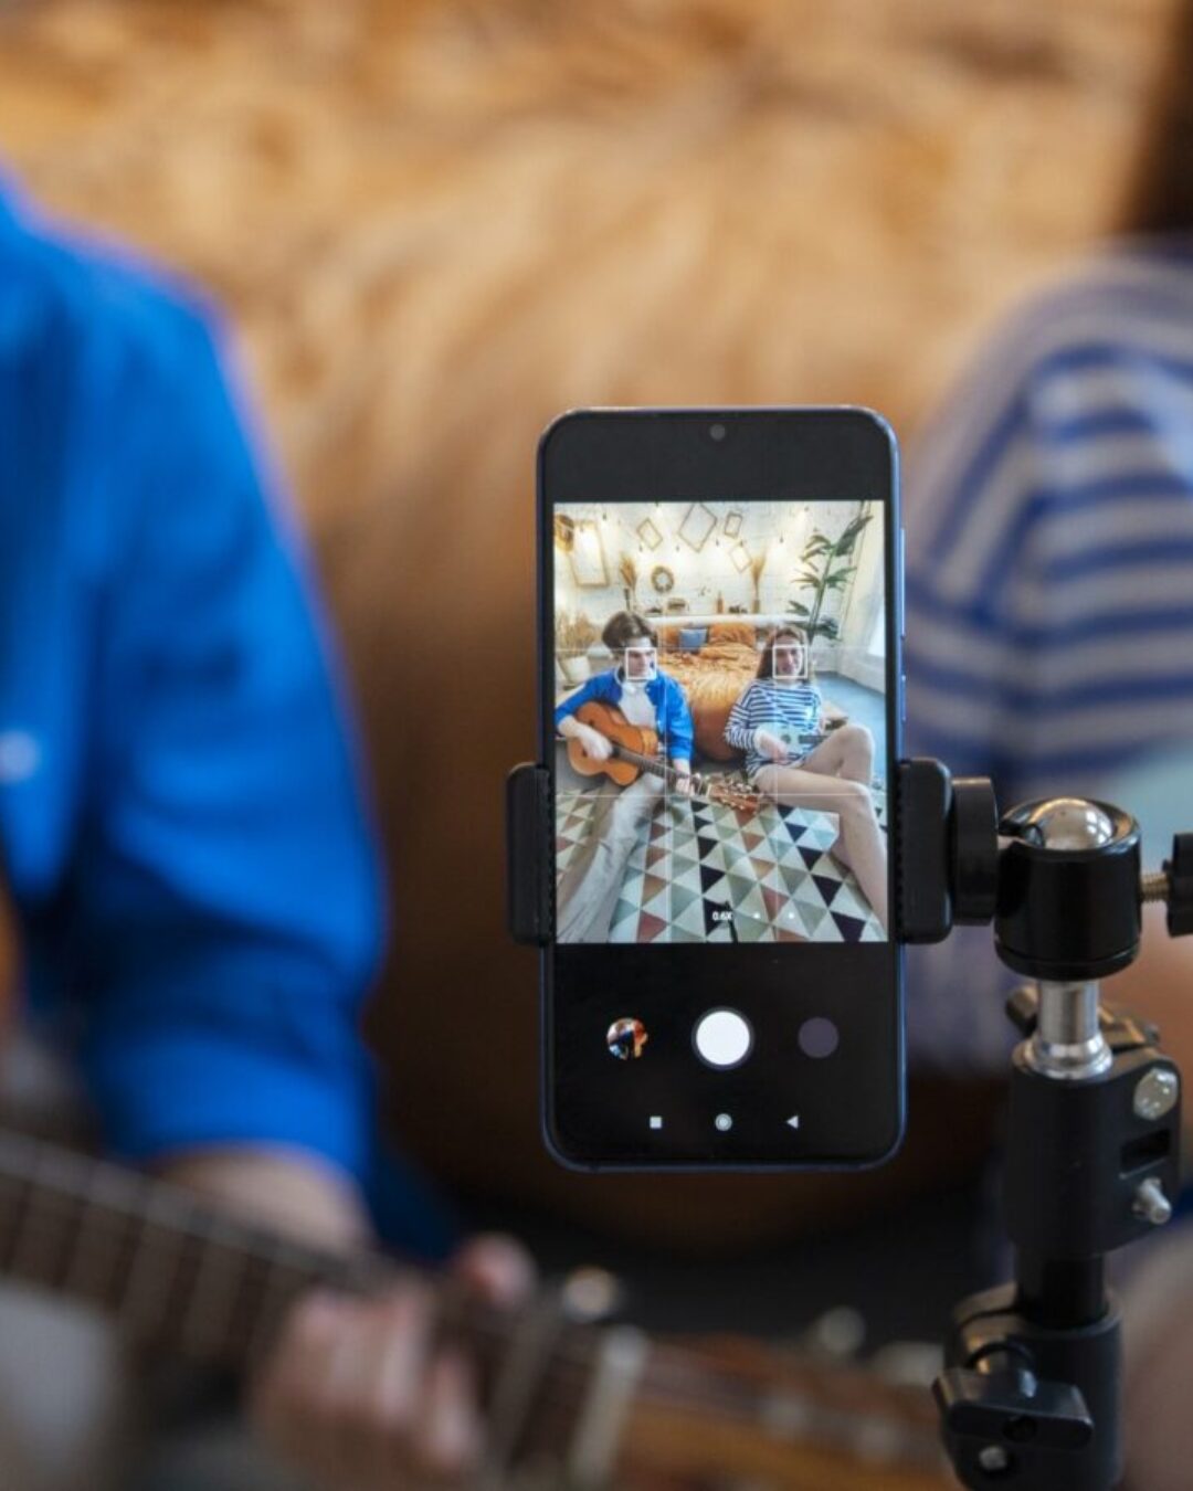
<svg viewBox="0 0 1193 1491">
<path fill-rule="evenodd" d="M 1169 9 L 0 10 L 0 158 L 201 279 L 242 335 L 361 690 L 395 912 L 373 1035 L 438 1175 L 710 1245 L 835 1184 L 659 1193 L 540 1151 L 535 969 L 501 886 L 501 783 L 534 741 L 535 438 L 610 403 L 866 403 L 913 434 L 1112 225 Z M 963 1150 L 926 1142 L 928 1169 Z"/>
</svg>

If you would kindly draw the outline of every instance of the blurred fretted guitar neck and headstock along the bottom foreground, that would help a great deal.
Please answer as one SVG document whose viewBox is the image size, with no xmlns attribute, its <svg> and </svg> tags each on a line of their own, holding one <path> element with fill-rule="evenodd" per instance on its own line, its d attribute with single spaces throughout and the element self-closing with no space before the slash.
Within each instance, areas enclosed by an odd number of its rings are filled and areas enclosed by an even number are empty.
<svg viewBox="0 0 1193 1491">
<path fill-rule="evenodd" d="M 395 1270 L 373 1254 L 291 1242 L 179 1187 L 0 1130 L 0 1275 L 91 1302 L 136 1340 L 243 1370 L 300 1294 L 373 1294 Z M 604 1481 L 616 1464 L 629 1479 L 667 1485 L 738 1475 L 780 1491 L 945 1485 L 928 1396 L 908 1402 L 857 1372 L 740 1345 L 647 1343 L 632 1330 L 576 1324 L 570 1311 L 552 1324 L 541 1303 L 497 1315 L 444 1287 L 438 1321 L 474 1354 L 491 1437 L 507 1442 L 510 1464 L 549 1457 L 571 1466 L 577 1484 Z M 628 1375 L 626 1334 L 638 1340 Z M 856 1443 L 866 1437 L 859 1460 Z"/>
</svg>

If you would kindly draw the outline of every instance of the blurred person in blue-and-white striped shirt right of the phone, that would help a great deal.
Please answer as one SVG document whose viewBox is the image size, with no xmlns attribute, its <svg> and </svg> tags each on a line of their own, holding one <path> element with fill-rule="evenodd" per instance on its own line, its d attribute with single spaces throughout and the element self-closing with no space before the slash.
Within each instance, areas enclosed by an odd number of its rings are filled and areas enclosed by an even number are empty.
<svg viewBox="0 0 1193 1491">
<path fill-rule="evenodd" d="M 908 754 L 990 775 L 999 804 L 1115 802 L 1157 866 L 1193 829 L 1193 3 L 1129 192 L 1124 233 L 981 352 L 907 483 Z M 1193 941 L 1145 908 L 1108 997 L 1193 1071 Z M 953 1072 L 1005 1060 L 990 933 L 911 948 L 910 1050 Z M 1187 1485 L 1193 1238 L 1133 1249 L 1130 1485 Z M 1130 1264 L 1130 1258 L 1127 1258 Z"/>
</svg>

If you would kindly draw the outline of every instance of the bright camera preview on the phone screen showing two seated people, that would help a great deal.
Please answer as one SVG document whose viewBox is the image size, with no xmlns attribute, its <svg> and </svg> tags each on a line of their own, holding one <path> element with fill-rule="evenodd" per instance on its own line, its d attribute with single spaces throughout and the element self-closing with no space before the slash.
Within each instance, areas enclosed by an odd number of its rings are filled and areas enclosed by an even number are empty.
<svg viewBox="0 0 1193 1491">
<path fill-rule="evenodd" d="M 556 939 L 886 941 L 883 504 L 559 502 L 553 538 Z"/>
</svg>

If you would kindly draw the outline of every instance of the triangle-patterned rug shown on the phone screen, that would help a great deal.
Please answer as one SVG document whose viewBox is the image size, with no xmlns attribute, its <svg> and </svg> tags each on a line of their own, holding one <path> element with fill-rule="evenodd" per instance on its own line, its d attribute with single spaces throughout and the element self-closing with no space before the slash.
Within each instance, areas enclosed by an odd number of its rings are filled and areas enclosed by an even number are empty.
<svg viewBox="0 0 1193 1491">
<path fill-rule="evenodd" d="M 599 790 L 556 795 L 559 874 Z M 883 822 L 881 795 L 878 808 Z M 853 874 L 828 853 L 835 838 L 832 813 L 668 795 L 629 856 L 610 942 L 883 942 Z"/>
</svg>

